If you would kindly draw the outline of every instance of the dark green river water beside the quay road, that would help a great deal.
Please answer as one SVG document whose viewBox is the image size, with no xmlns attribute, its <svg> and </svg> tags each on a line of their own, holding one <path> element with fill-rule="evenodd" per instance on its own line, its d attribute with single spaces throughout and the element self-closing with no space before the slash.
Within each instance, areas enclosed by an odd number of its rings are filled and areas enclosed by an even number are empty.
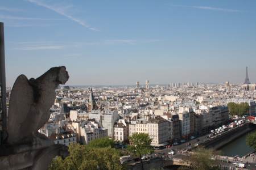
<svg viewBox="0 0 256 170">
<path fill-rule="evenodd" d="M 253 130 L 251 132 L 255 132 L 256 130 Z M 241 137 L 237 138 L 236 140 L 228 143 L 227 145 L 221 147 L 219 150 L 222 152 L 222 155 L 226 156 L 244 156 L 248 154 L 249 152 L 253 151 L 253 148 L 250 148 L 246 145 L 245 139 L 246 135 L 244 134 Z"/>
</svg>

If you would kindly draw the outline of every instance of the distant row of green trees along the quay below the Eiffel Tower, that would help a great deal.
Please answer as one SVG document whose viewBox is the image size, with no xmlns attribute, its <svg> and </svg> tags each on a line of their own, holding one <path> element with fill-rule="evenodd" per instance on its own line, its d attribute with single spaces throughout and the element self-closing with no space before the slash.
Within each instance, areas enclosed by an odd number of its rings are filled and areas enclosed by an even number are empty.
<svg viewBox="0 0 256 170">
<path fill-rule="evenodd" d="M 249 112 L 250 106 L 248 103 L 228 103 L 229 112 L 232 115 L 243 116 Z"/>
</svg>

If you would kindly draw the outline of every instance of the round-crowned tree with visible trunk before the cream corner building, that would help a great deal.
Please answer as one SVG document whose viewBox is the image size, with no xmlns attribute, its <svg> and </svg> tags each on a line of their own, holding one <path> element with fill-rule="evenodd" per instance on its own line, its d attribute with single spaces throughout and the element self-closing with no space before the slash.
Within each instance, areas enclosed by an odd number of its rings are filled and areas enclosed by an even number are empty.
<svg viewBox="0 0 256 170">
<path fill-rule="evenodd" d="M 131 145 L 128 146 L 127 150 L 131 154 L 139 156 L 141 168 L 144 169 L 141 157 L 154 151 L 151 146 L 152 139 L 146 133 L 134 133 L 129 140 Z"/>
</svg>

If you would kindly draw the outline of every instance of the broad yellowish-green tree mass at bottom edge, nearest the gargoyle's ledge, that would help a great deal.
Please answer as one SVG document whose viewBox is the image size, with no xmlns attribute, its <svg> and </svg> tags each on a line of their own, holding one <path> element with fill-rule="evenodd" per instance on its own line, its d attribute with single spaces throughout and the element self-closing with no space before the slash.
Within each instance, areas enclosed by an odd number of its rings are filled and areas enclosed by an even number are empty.
<svg viewBox="0 0 256 170">
<path fill-rule="evenodd" d="M 115 148 L 89 147 L 85 145 L 70 145 L 69 156 L 62 160 L 57 157 L 52 160 L 50 170 L 79 170 L 79 169 L 111 169 L 121 170 L 120 153 Z"/>
</svg>

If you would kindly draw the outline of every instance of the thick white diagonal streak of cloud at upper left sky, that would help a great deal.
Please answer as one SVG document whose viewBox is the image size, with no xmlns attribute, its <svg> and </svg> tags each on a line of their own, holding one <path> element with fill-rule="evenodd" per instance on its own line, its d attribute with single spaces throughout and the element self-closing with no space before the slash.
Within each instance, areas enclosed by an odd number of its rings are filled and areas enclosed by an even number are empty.
<svg viewBox="0 0 256 170">
<path fill-rule="evenodd" d="M 31 3 L 34 3 L 35 5 L 38 5 L 38 6 L 42 6 L 44 8 L 47 8 L 49 10 L 52 10 L 54 12 L 56 12 L 57 14 L 60 14 L 62 16 L 65 16 L 65 18 L 68 18 L 70 20 L 72 20 L 73 22 L 76 22 L 80 25 L 82 25 L 83 27 L 85 28 L 88 28 L 92 31 L 99 31 L 98 29 L 96 28 L 93 28 L 93 27 L 90 27 L 90 25 L 86 24 L 84 21 L 80 20 L 80 19 L 77 19 L 75 18 L 74 16 L 72 15 L 69 15 L 67 14 L 67 12 L 65 12 L 67 10 L 67 8 L 69 8 L 70 6 L 64 6 L 64 7 L 56 7 L 56 6 L 51 6 L 51 5 L 47 5 L 46 3 L 43 3 L 41 1 L 38 1 L 38 0 L 27 0 L 28 2 L 31 2 Z"/>
</svg>

